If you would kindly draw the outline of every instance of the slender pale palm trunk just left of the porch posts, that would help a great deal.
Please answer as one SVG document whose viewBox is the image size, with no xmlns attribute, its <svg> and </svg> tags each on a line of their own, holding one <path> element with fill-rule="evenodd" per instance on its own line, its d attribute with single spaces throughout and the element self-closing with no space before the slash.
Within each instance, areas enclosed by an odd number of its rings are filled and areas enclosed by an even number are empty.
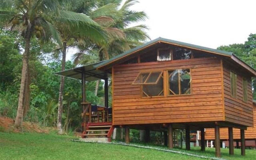
<svg viewBox="0 0 256 160">
<path fill-rule="evenodd" d="M 66 46 L 67 46 L 67 42 L 64 41 L 63 50 L 62 50 L 62 66 L 61 66 L 62 71 L 65 70 L 65 64 L 66 64 Z M 62 134 L 63 89 L 64 89 L 64 77 L 61 77 L 59 103 L 58 103 L 58 119 L 57 119 L 57 130 L 59 134 Z"/>
</svg>

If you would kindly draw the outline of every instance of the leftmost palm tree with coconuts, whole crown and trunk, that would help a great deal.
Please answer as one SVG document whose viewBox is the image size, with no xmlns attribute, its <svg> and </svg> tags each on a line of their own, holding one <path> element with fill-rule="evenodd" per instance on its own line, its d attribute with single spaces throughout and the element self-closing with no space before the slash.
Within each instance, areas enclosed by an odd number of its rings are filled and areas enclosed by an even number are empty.
<svg viewBox="0 0 256 160">
<path fill-rule="evenodd" d="M 66 3 L 66 2 L 65 2 Z M 17 128 L 22 127 L 24 99 L 28 94 L 28 60 L 30 56 L 30 40 L 33 36 L 42 41 L 54 40 L 62 47 L 60 33 L 54 27 L 53 22 L 62 23 L 70 28 L 88 28 L 88 17 L 82 14 L 62 11 L 64 0 L 0 0 L 0 24 L 9 30 L 18 30 L 24 37 L 24 53 L 22 61 L 22 76 L 18 109 L 15 120 Z M 100 37 L 103 31 L 98 25 L 94 25 Z M 80 29 L 82 30 L 82 29 Z M 94 32 L 96 33 L 96 32 Z"/>
</svg>

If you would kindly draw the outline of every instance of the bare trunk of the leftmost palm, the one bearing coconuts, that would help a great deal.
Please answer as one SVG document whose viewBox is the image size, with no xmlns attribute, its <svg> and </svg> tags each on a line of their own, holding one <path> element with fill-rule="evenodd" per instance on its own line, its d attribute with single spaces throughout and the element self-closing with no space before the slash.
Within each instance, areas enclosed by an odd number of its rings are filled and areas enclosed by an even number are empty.
<svg viewBox="0 0 256 160">
<path fill-rule="evenodd" d="M 28 59 L 29 59 L 29 53 L 30 53 L 30 38 L 31 38 L 31 28 L 28 28 L 26 30 L 26 36 L 25 36 L 25 52 L 23 54 L 23 60 L 22 60 L 22 73 L 21 73 L 21 82 L 20 82 L 20 95 L 19 95 L 19 101 L 18 101 L 18 109 L 17 109 L 17 115 L 15 119 L 15 127 L 21 128 L 22 127 L 22 121 L 23 121 L 23 111 L 24 111 L 24 98 L 26 98 L 26 83 L 28 83 Z"/>
</svg>

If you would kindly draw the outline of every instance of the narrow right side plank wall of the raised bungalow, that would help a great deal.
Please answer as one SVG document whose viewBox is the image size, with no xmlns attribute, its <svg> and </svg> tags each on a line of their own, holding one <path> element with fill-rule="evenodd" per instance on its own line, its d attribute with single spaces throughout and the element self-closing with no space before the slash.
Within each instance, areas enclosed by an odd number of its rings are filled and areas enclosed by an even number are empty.
<svg viewBox="0 0 256 160">
<path fill-rule="evenodd" d="M 230 72 L 237 74 L 237 98 L 231 96 Z M 252 85 L 251 77 L 244 73 L 237 72 L 230 64 L 223 63 L 224 78 L 224 107 L 225 120 L 228 122 L 241 124 L 244 126 L 253 126 L 253 104 L 252 104 Z M 248 101 L 243 101 L 242 78 L 248 79 Z"/>
</svg>

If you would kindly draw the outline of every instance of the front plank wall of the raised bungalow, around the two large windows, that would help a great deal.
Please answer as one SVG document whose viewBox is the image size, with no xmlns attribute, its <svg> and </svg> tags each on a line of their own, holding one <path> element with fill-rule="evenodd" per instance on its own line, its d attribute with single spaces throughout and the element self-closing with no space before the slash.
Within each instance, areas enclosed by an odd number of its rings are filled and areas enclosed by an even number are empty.
<svg viewBox="0 0 256 160">
<path fill-rule="evenodd" d="M 114 66 L 113 125 L 224 120 L 220 61 L 194 58 Z M 191 69 L 191 95 L 141 98 L 140 86 L 132 85 L 139 72 L 186 68 Z"/>
</svg>

